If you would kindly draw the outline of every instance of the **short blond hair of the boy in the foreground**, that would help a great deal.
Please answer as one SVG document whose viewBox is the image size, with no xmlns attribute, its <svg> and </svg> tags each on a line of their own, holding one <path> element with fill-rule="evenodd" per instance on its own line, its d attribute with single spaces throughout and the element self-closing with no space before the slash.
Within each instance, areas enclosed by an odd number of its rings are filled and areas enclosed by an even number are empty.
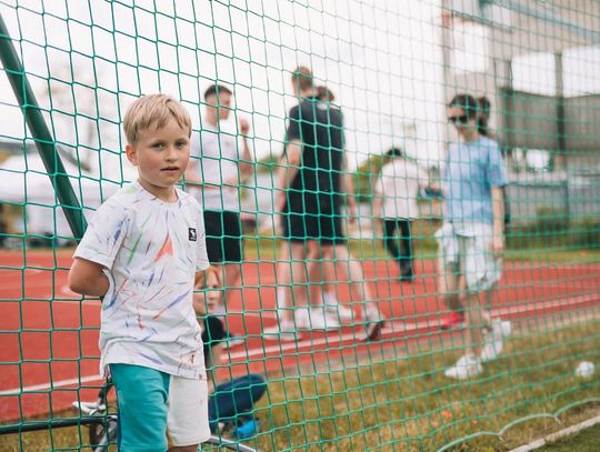
<svg viewBox="0 0 600 452">
<path fill-rule="evenodd" d="M 186 108 L 167 94 L 149 94 L 136 100 L 127 110 L 123 131 L 129 144 L 137 144 L 140 134 L 151 125 L 163 128 L 169 119 L 174 119 L 181 129 L 191 135 L 191 119 Z"/>
</svg>

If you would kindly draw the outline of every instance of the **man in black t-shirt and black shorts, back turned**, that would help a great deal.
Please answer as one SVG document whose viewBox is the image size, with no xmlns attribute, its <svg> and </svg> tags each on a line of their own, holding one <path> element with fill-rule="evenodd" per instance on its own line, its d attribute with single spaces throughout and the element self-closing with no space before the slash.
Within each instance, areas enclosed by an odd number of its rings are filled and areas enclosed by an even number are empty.
<svg viewBox="0 0 600 452">
<path fill-rule="evenodd" d="M 342 228 L 346 160 L 341 110 L 319 98 L 308 68 L 293 71 L 292 88 L 300 103 L 289 114 L 277 205 L 283 238 L 290 242 L 292 300 L 308 304 L 307 260 L 322 262 L 334 257 L 348 263 L 350 282 L 360 284 L 367 338 L 378 339 L 383 317 L 370 301 L 362 267 L 350 259 Z M 280 283 L 291 284 L 291 278 Z M 291 307 L 291 300 L 286 305 Z M 278 328 L 282 339 L 297 334 L 291 310 L 281 313 Z"/>
</svg>

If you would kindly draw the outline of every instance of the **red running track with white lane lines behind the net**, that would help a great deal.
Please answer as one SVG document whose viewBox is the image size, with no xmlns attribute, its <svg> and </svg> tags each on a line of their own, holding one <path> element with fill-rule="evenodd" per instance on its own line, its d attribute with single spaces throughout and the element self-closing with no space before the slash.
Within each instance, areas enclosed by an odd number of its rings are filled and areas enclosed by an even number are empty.
<svg viewBox="0 0 600 452">
<path fill-rule="evenodd" d="M 0 422 L 62 411 L 71 402 L 92 400 L 98 376 L 99 301 L 81 302 L 66 288 L 70 251 L 0 253 Z M 282 371 L 319 364 L 348 354 L 364 354 L 390 341 L 438 332 L 440 311 L 433 263 L 417 263 L 412 284 L 398 281 L 389 261 L 364 262 L 366 278 L 381 311 L 392 321 L 377 344 L 359 342 L 360 325 L 339 331 L 304 332 L 298 342 L 266 340 L 276 323 L 273 262 L 244 263 L 241 293 L 228 303 L 230 330 L 247 337 L 229 354 L 228 373 Z M 600 304 L 600 264 L 509 263 L 494 302 L 506 318 L 536 318 Z M 347 283 L 338 297 L 351 302 Z M 242 303 L 243 300 L 243 303 Z M 428 340 L 433 340 L 431 335 Z M 227 361 L 227 359 L 226 359 Z"/>
</svg>

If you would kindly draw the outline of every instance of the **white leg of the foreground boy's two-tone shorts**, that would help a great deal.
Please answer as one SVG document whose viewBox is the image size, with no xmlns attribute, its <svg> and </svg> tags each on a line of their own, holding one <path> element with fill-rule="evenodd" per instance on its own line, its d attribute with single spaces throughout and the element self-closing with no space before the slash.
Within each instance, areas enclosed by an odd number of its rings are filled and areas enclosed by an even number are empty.
<svg viewBox="0 0 600 452">
<path fill-rule="evenodd" d="M 201 444 L 210 438 L 206 380 L 171 375 L 167 431 L 172 445 Z"/>
</svg>

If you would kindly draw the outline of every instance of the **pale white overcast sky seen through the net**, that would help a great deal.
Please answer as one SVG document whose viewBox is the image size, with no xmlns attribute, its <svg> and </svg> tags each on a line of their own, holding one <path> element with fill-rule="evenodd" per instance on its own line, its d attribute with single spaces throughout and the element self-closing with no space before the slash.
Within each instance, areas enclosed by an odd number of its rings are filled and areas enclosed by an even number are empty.
<svg viewBox="0 0 600 452">
<path fill-rule="evenodd" d="M 224 4 L 227 3 L 227 4 Z M 279 155 L 296 104 L 290 70 L 312 68 L 346 118 L 350 165 L 391 145 L 436 163 L 447 121 L 441 0 L 0 1 L 52 132 L 103 177 L 131 174 L 120 122 L 141 93 L 183 101 L 200 128 L 203 90 L 233 88 L 236 114 L 252 124 L 257 159 Z M 42 16 L 43 12 L 43 16 Z M 68 19 L 68 20 L 67 20 Z M 464 34 L 458 70 L 486 70 L 486 32 Z M 564 54 L 568 93 L 600 92 L 600 49 Z M 548 54 L 514 60 L 514 88 L 553 93 Z M 22 139 L 22 115 L 0 72 L 0 137 Z M 93 89 L 97 87 L 97 89 Z M 50 90 L 51 96 L 48 96 Z M 234 129 L 231 121 L 229 128 Z M 100 149 L 100 152 L 98 151 Z M 101 164 L 99 164 L 101 162 Z"/>
</svg>

